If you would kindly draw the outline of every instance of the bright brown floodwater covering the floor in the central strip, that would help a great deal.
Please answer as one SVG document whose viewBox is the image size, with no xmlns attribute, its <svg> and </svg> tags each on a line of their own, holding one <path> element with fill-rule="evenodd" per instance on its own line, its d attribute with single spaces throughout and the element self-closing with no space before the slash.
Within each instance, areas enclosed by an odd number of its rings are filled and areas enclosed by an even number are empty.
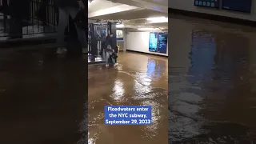
<svg viewBox="0 0 256 144">
<path fill-rule="evenodd" d="M 167 58 L 120 53 L 117 67 L 89 66 L 89 144 L 167 143 Z M 153 106 L 150 126 L 106 126 L 104 106 Z"/>
</svg>

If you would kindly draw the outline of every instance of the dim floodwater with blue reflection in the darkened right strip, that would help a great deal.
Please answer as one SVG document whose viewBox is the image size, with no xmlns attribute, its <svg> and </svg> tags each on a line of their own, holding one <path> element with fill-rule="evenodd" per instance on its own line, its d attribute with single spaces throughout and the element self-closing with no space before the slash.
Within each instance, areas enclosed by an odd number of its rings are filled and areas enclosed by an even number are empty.
<svg viewBox="0 0 256 144">
<path fill-rule="evenodd" d="M 256 142 L 256 29 L 169 18 L 169 142 Z"/>
</svg>

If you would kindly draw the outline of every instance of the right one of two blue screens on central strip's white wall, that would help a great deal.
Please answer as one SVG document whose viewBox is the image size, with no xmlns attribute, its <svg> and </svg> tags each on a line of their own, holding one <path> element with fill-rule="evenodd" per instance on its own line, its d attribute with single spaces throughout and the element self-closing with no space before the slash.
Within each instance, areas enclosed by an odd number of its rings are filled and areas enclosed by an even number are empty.
<svg viewBox="0 0 256 144">
<path fill-rule="evenodd" d="M 166 54 L 167 38 L 168 38 L 168 33 L 159 33 L 158 34 L 158 53 Z"/>
</svg>

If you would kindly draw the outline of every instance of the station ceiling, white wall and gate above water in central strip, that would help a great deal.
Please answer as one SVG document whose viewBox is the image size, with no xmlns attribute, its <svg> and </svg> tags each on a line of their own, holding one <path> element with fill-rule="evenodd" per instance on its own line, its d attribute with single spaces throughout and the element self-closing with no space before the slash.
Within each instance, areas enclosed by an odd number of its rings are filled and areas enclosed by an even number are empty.
<svg viewBox="0 0 256 144">
<path fill-rule="evenodd" d="M 166 3 L 167 4 L 167 3 Z M 168 31 L 167 8 L 157 6 L 151 10 L 144 7 L 140 2 L 131 5 L 110 1 L 94 0 L 89 2 L 89 63 L 105 61 L 104 41 L 107 34 L 113 33 L 114 46 L 119 46 L 120 51 L 132 50 L 142 53 L 150 53 L 148 44 L 150 32 Z M 144 34 L 144 35 L 143 35 Z M 130 46 L 131 43 L 141 43 L 142 46 Z M 167 43 L 166 43 L 167 45 Z M 139 49 L 138 49 L 139 48 Z M 167 56 L 167 48 L 162 52 L 152 51 L 152 54 Z"/>
</svg>

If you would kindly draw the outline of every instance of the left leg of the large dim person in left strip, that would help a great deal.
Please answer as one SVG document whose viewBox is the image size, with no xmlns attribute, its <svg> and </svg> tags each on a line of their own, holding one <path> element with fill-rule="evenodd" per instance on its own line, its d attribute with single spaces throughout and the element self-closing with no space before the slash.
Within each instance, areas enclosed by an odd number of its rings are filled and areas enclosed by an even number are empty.
<svg viewBox="0 0 256 144">
<path fill-rule="evenodd" d="M 66 51 L 66 49 L 63 49 L 65 47 L 65 29 L 68 25 L 69 21 L 69 14 L 67 14 L 66 10 L 63 10 L 61 8 L 58 8 L 58 38 L 57 38 L 57 54 L 61 54 Z"/>
</svg>

